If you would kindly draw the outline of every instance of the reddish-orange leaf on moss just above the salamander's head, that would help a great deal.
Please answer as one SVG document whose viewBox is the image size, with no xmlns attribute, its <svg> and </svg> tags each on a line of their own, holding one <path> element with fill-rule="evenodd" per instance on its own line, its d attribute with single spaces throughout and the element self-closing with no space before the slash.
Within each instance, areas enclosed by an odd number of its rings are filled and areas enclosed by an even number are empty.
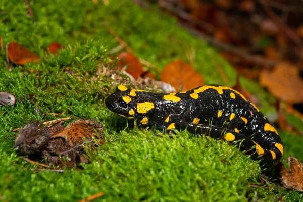
<svg viewBox="0 0 303 202">
<path fill-rule="evenodd" d="M 117 64 L 117 69 L 122 69 L 124 66 L 128 65 L 126 68 L 126 72 L 131 74 L 134 79 L 137 79 L 143 73 L 143 67 L 137 57 L 134 55 L 122 52 L 118 55 L 120 59 Z"/>
</svg>

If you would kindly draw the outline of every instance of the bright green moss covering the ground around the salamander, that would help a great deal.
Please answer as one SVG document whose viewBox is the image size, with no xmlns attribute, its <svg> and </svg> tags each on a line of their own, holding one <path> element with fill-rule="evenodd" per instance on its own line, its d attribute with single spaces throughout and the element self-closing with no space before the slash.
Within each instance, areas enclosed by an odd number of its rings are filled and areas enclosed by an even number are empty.
<svg viewBox="0 0 303 202">
<path fill-rule="evenodd" d="M 136 56 L 160 69 L 181 58 L 207 84 L 235 83 L 234 69 L 213 48 L 179 28 L 175 19 L 127 0 L 110 0 L 108 6 L 102 1 L 29 2 L 32 17 L 24 1 L 0 3 L 4 44 L 16 41 L 42 57 L 38 64 L 14 66 L 9 72 L 6 53 L 1 52 L 0 91 L 13 93 L 17 103 L 0 106 L 0 200 L 75 201 L 101 191 L 104 196 L 99 201 L 303 200 L 295 191 L 278 188 L 275 178 L 268 180 L 269 189 L 251 186 L 260 184 L 259 164 L 226 142 L 186 132 L 161 138 L 154 130 L 129 127 L 131 121 L 105 107 L 105 97 L 114 90 L 110 80 L 91 81 L 100 65 L 110 63 L 107 51 L 119 45 L 105 23 Z M 45 49 L 52 42 L 66 49 L 58 56 L 47 55 Z M 262 101 L 260 109 L 275 116 L 274 99 L 257 83 L 242 81 Z M 88 155 L 91 163 L 83 169 L 39 171 L 17 155 L 12 129 L 59 117 L 101 121 L 107 143 Z M 279 132 L 285 145 L 283 159 L 291 154 L 303 161 L 302 137 Z"/>
</svg>

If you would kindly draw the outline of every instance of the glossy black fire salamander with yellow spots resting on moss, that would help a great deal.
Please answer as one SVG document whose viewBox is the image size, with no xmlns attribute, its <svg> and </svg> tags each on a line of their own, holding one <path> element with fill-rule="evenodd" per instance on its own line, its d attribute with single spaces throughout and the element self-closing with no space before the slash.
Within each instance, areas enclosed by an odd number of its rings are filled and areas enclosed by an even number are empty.
<svg viewBox="0 0 303 202">
<path fill-rule="evenodd" d="M 240 140 L 240 148 L 261 156 L 263 164 L 274 164 L 283 155 L 276 129 L 254 104 L 229 87 L 204 85 L 183 92 L 154 93 L 119 85 L 105 103 L 111 111 L 141 125 L 167 132 L 187 129 L 229 142 Z"/>
</svg>

